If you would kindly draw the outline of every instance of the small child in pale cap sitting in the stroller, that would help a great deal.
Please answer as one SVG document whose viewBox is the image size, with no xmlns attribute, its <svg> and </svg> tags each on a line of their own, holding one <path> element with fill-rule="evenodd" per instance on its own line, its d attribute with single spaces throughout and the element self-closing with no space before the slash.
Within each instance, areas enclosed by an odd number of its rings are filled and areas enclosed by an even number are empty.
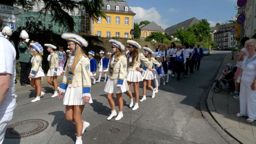
<svg viewBox="0 0 256 144">
<path fill-rule="evenodd" d="M 222 74 L 218 79 L 215 80 L 215 82 L 220 82 L 223 79 L 224 80 L 231 80 L 234 77 L 234 72 L 232 71 L 233 65 L 231 63 L 227 63 L 225 66 L 225 69 L 222 71 Z M 226 81 L 222 81 L 225 86 L 229 86 L 229 84 Z"/>
</svg>

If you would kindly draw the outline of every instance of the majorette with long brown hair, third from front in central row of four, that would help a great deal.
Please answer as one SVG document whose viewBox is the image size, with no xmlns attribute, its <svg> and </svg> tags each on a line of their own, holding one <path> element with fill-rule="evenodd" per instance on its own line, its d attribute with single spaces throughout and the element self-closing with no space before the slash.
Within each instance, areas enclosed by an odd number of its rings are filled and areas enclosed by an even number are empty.
<svg viewBox="0 0 256 144">
<path fill-rule="evenodd" d="M 138 52 L 138 49 L 141 49 L 141 46 L 139 43 L 137 43 L 134 40 L 127 40 L 126 43 L 129 44 L 129 56 L 128 56 L 128 72 L 127 72 L 127 83 L 129 86 L 129 89 L 131 87 L 131 83 L 133 83 L 134 86 L 134 93 L 135 93 L 135 105 L 132 108 L 132 110 L 136 110 L 139 108 L 139 82 L 143 81 L 143 77 L 140 72 L 140 62 L 144 62 L 144 66 L 142 67 L 144 70 L 148 69 L 148 66 L 150 65 L 150 61 L 145 58 L 145 56 Z"/>
</svg>

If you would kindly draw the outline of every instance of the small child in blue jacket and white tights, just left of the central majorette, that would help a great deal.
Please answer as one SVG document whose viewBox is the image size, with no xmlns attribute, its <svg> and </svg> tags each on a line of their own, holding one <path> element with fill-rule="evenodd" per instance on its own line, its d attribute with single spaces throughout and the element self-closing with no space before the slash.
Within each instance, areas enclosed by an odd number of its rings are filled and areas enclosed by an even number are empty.
<svg viewBox="0 0 256 144">
<path fill-rule="evenodd" d="M 107 80 L 108 61 L 109 60 L 105 57 L 104 51 L 101 50 L 99 52 L 99 55 L 101 57 L 101 60 L 99 61 L 99 79 L 98 79 L 98 81 L 96 81 L 96 83 L 100 83 L 102 72 L 104 73 L 104 76 L 105 76 L 105 80 L 104 80 L 104 83 L 105 83 Z"/>
</svg>

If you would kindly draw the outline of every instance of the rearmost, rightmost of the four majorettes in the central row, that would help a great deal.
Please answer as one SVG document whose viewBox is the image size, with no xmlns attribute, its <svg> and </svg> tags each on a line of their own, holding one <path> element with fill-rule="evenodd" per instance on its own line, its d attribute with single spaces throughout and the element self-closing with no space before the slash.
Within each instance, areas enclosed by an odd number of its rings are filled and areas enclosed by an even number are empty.
<svg viewBox="0 0 256 144">
<path fill-rule="evenodd" d="M 151 80 L 154 80 L 154 75 L 153 75 L 153 72 L 152 71 L 156 71 L 160 66 L 161 64 L 155 60 L 152 56 L 152 54 L 154 54 L 154 52 L 149 49 L 148 47 L 143 47 L 144 51 L 145 51 L 145 57 L 148 58 L 148 60 L 150 61 L 150 64 L 148 66 L 148 69 L 147 70 L 143 70 L 143 73 L 142 73 L 142 77 L 143 77 L 143 98 L 140 100 L 140 101 L 144 101 L 146 100 L 146 86 L 148 86 L 148 88 L 151 90 L 152 92 L 152 95 L 151 97 L 154 98 L 155 96 L 155 91 L 154 91 L 154 88 L 151 86 Z M 153 67 L 153 64 L 156 65 Z M 144 65 L 144 63 L 143 63 Z"/>
</svg>

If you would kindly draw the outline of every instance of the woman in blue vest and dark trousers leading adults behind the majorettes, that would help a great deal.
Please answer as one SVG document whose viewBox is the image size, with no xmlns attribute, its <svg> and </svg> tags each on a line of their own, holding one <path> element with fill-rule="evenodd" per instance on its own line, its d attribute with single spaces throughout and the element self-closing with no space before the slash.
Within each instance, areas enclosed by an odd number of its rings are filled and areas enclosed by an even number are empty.
<svg viewBox="0 0 256 144">
<path fill-rule="evenodd" d="M 184 65 L 186 63 L 185 51 L 183 50 L 183 46 L 177 45 L 177 52 L 175 58 L 174 69 L 177 72 L 177 81 L 180 80 L 180 73 L 184 72 Z"/>
</svg>

